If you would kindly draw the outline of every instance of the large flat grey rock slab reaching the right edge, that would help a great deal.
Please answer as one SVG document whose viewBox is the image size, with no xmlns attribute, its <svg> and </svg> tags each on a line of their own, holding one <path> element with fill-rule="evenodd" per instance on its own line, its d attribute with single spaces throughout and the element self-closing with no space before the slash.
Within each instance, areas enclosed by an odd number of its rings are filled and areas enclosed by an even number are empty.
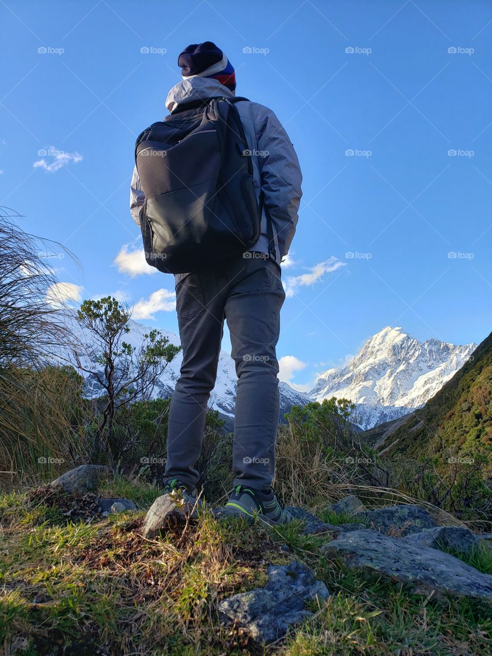
<svg viewBox="0 0 492 656">
<path fill-rule="evenodd" d="M 459 558 L 428 546 L 363 529 L 323 544 L 321 554 L 346 556 L 352 570 L 384 575 L 410 584 L 417 594 L 435 591 L 452 596 L 492 599 L 492 575 L 482 574 Z"/>
</svg>

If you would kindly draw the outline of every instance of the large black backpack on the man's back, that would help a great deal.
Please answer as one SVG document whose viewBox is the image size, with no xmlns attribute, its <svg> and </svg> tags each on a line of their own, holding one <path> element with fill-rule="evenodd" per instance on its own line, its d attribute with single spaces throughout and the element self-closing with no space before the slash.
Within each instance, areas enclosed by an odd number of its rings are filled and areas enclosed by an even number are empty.
<svg viewBox="0 0 492 656">
<path fill-rule="evenodd" d="M 260 236 L 263 203 L 258 207 L 238 100 L 247 98 L 180 105 L 136 140 L 145 258 L 159 271 L 218 269 Z M 275 257 L 268 217 L 267 224 Z"/>
</svg>

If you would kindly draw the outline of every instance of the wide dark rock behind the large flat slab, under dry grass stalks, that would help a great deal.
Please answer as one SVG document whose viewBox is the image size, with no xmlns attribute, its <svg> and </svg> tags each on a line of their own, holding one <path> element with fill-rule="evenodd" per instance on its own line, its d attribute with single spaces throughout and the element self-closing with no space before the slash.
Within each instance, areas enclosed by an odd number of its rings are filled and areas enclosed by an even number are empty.
<svg viewBox="0 0 492 656">
<path fill-rule="evenodd" d="M 398 534 L 398 537 L 420 533 L 438 525 L 430 514 L 417 504 L 401 504 L 378 510 L 367 510 L 358 514 L 358 518 L 365 523 L 367 528 L 381 533 L 391 531 Z"/>
</svg>

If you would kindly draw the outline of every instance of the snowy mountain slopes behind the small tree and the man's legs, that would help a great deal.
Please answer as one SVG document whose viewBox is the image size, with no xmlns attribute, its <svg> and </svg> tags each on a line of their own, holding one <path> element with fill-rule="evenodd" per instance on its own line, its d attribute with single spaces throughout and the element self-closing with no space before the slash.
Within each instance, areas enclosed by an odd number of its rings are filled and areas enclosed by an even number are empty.
<svg viewBox="0 0 492 656">
<path fill-rule="evenodd" d="M 72 327 L 73 333 L 82 344 L 90 344 L 91 335 L 86 331 L 77 321 L 75 315 L 71 316 L 70 313 L 66 314 L 68 322 Z M 125 335 L 125 342 L 129 342 L 133 346 L 140 346 L 142 343 L 142 335 L 148 333 L 151 328 L 133 321 L 129 323 L 130 332 Z M 171 331 L 161 330 L 163 337 L 167 337 L 169 342 L 179 346 L 179 337 Z M 167 397 L 170 396 L 179 378 L 179 370 L 182 363 L 182 353 L 178 353 L 176 358 L 167 365 L 161 379 L 157 381 L 154 390 L 154 396 Z M 99 385 L 94 379 L 86 379 L 87 390 L 89 394 L 98 396 L 100 394 Z M 215 388 L 211 393 L 210 404 L 213 409 L 218 410 L 223 419 L 226 419 L 226 428 L 232 429 L 232 418 L 234 418 L 234 405 L 236 403 L 236 390 L 237 390 L 237 377 L 236 369 L 234 367 L 234 360 L 230 354 L 222 350 L 218 359 L 217 378 Z M 286 382 L 279 383 L 280 393 L 280 419 L 288 412 L 293 405 L 304 405 L 310 401 L 310 398 L 302 392 L 297 392 Z M 230 420 L 228 420 L 228 418 Z"/>
</svg>

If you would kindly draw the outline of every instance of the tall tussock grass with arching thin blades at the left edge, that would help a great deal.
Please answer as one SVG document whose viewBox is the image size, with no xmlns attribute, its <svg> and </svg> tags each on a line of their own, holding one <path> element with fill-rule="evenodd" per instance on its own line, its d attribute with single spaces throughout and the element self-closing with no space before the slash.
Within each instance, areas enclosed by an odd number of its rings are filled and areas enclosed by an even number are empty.
<svg viewBox="0 0 492 656">
<path fill-rule="evenodd" d="M 54 307 L 49 254 L 60 250 L 73 257 L 60 244 L 24 232 L 13 213 L 0 208 L 1 489 L 52 474 L 51 457 L 71 462 L 82 455 L 75 421 L 80 400 L 72 403 L 77 381 L 49 365 L 75 340 Z"/>
</svg>

